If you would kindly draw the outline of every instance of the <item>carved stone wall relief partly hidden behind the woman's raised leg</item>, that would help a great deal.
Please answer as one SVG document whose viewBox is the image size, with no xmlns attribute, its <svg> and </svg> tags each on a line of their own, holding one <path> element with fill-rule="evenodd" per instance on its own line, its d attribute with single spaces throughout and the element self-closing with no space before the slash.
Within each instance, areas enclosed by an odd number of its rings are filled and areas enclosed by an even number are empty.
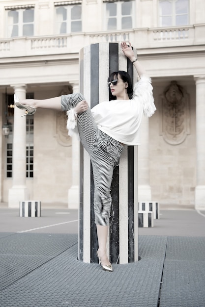
<svg viewBox="0 0 205 307">
<path fill-rule="evenodd" d="M 66 85 L 63 87 L 60 95 L 67 95 L 73 92 L 72 85 Z M 72 138 L 68 135 L 67 125 L 67 115 L 66 112 L 57 112 L 56 116 L 56 138 L 60 145 L 62 146 L 71 146 Z"/>
</svg>

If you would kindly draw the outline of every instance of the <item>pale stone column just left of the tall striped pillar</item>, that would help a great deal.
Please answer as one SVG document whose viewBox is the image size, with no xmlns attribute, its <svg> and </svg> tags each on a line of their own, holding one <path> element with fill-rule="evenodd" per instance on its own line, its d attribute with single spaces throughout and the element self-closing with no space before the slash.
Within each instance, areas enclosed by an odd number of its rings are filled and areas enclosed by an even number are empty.
<svg viewBox="0 0 205 307">
<path fill-rule="evenodd" d="M 79 92 L 78 84 L 73 84 L 73 93 Z M 79 208 L 79 140 L 72 137 L 72 186 L 68 190 L 68 208 Z"/>
</svg>

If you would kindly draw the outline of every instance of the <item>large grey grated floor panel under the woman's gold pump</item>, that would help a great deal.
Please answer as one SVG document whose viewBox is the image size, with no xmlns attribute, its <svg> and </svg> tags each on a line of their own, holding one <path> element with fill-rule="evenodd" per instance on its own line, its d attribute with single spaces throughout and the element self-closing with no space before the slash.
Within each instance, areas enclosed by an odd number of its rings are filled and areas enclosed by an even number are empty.
<svg viewBox="0 0 205 307">
<path fill-rule="evenodd" d="M 156 307 L 163 259 L 114 265 L 77 260 L 77 245 L 0 292 L 2 307 Z"/>
</svg>

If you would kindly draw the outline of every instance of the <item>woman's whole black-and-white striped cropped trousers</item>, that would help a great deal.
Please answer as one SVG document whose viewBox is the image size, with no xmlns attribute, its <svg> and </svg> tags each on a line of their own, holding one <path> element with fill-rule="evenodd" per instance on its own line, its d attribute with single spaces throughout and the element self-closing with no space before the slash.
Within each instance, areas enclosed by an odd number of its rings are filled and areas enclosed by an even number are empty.
<svg viewBox="0 0 205 307">
<path fill-rule="evenodd" d="M 62 95 L 61 109 L 68 111 L 83 100 L 86 99 L 80 93 Z M 78 114 L 78 130 L 92 164 L 95 224 L 109 226 L 113 170 L 119 163 L 123 146 L 97 127 L 90 108 Z"/>
</svg>

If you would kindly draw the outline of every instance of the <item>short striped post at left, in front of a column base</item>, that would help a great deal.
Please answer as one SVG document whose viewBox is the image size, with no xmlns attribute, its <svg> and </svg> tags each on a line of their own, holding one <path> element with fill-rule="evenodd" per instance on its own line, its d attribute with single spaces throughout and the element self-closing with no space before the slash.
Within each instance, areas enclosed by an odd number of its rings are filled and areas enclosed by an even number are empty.
<svg viewBox="0 0 205 307">
<path fill-rule="evenodd" d="M 20 202 L 20 217 L 40 217 L 41 202 L 24 201 Z"/>
</svg>

